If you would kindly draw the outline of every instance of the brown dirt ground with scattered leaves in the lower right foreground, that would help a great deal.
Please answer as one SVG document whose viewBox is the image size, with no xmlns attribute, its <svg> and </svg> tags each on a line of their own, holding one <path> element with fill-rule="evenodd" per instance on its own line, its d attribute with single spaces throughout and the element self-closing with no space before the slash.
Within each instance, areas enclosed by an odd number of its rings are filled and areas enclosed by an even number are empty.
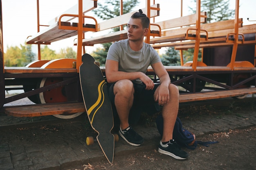
<svg viewBox="0 0 256 170">
<path fill-rule="evenodd" d="M 189 159 L 176 160 L 153 150 L 117 156 L 106 161 L 77 165 L 72 170 L 256 170 L 256 127 L 230 130 L 197 138 L 197 141 L 218 141 L 195 150 L 184 148 Z"/>
</svg>

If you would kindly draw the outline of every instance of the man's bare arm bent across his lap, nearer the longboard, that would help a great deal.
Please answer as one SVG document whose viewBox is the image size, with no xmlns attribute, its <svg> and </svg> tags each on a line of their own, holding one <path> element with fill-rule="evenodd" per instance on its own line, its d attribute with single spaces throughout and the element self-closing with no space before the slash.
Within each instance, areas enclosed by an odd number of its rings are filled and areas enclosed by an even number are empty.
<svg viewBox="0 0 256 170">
<path fill-rule="evenodd" d="M 106 77 L 109 83 L 117 82 L 121 79 L 129 79 L 135 80 L 140 79 L 144 84 L 146 84 L 146 89 L 153 89 L 154 83 L 153 81 L 144 73 L 142 72 L 123 72 L 118 71 L 118 62 L 114 60 L 106 60 Z"/>
</svg>

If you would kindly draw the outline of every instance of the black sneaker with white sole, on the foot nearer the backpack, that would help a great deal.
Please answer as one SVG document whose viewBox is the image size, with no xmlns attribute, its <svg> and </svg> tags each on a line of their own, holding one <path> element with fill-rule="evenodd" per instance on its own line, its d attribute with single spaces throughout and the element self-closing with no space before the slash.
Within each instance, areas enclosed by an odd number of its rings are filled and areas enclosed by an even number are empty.
<svg viewBox="0 0 256 170">
<path fill-rule="evenodd" d="M 175 159 L 187 159 L 189 157 L 189 154 L 181 150 L 174 139 L 168 141 L 167 144 L 162 144 L 162 141 L 160 141 L 158 152 L 169 155 Z"/>
</svg>

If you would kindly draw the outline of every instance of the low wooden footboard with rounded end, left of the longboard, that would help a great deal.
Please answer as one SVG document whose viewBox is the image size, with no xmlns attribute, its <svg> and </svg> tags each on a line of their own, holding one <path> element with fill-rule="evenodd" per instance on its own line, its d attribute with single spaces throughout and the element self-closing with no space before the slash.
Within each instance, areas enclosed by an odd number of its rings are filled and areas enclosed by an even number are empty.
<svg viewBox="0 0 256 170">
<path fill-rule="evenodd" d="M 3 107 L 4 112 L 15 117 L 36 117 L 47 115 L 70 115 L 72 113 L 85 112 L 83 102 L 63 104 L 36 104 L 23 106 Z"/>
</svg>

